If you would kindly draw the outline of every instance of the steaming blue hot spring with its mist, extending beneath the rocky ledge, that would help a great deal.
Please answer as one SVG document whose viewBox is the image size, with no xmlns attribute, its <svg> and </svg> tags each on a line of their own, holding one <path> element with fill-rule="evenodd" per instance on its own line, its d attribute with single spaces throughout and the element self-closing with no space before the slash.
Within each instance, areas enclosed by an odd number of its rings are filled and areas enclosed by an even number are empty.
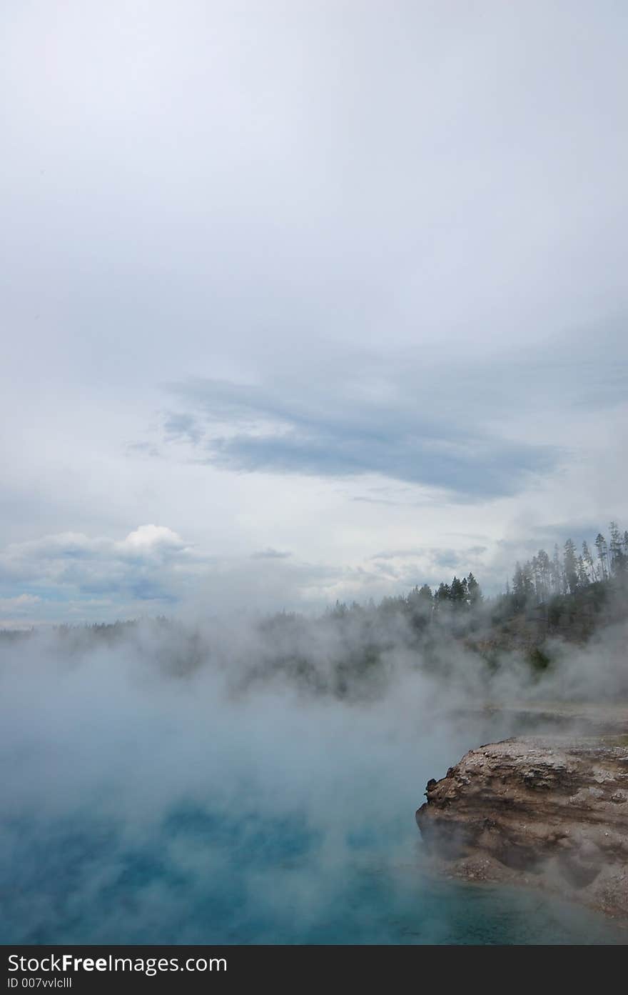
<svg viewBox="0 0 628 995">
<path fill-rule="evenodd" d="M 2 942 L 621 941 L 555 899 L 429 876 L 426 781 L 509 731 L 459 674 L 399 644 L 377 696 L 338 697 L 260 680 L 263 655 L 254 627 L 3 643 Z"/>
</svg>

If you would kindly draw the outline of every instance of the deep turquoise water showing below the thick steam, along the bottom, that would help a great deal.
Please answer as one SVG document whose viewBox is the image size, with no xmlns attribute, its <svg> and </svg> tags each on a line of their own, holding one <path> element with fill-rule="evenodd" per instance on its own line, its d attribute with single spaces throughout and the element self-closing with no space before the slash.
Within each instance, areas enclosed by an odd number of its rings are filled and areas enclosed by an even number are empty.
<svg viewBox="0 0 628 995">
<path fill-rule="evenodd" d="M 5 827 L 6 833 L 7 827 Z M 193 806 L 125 844 L 111 825 L 14 825 L 4 943 L 623 943 L 601 915 L 524 890 L 434 880 L 420 842 L 365 834 L 328 859 L 298 817 Z M 6 856 L 7 851 L 5 851 Z"/>
</svg>

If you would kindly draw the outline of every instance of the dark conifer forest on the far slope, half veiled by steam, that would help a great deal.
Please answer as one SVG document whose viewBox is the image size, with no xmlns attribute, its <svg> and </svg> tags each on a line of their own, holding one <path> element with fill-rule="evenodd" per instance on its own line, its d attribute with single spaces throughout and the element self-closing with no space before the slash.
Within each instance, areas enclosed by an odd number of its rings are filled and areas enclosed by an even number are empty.
<svg viewBox="0 0 628 995">
<path fill-rule="evenodd" d="M 551 555 L 540 549 L 515 564 L 495 596 L 485 596 L 469 572 L 379 603 L 336 601 L 315 616 L 208 616 L 195 625 L 158 616 L 60 625 L 52 633 L 57 651 L 70 657 L 98 645 L 132 646 L 180 677 L 209 663 L 238 691 L 285 679 L 317 694 L 378 697 L 408 668 L 440 677 L 473 671 L 482 682 L 523 665 L 534 677 L 564 660 L 569 645 L 584 648 L 628 619 L 628 532 L 611 522 L 608 539 L 599 532 L 592 545 L 595 555 L 586 540 L 578 551 L 570 538 Z M 0 645 L 50 636 L 50 629 L 3 630 Z"/>
</svg>

